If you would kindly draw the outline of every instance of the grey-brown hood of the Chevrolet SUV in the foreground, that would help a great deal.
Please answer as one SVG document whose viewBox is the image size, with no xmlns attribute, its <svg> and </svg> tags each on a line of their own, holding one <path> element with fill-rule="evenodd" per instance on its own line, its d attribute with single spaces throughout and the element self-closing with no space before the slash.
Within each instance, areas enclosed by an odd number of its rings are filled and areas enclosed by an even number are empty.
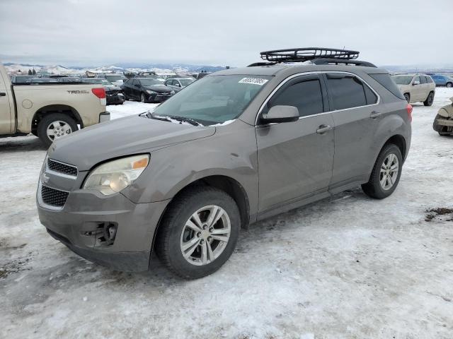
<svg viewBox="0 0 453 339">
<path fill-rule="evenodd" d="M 50 158 L 87 171 L 114 157 L 146 153 L 166 145 L 206 138 L 215 127 L 175 124 L 147 117 L 125 117 L 76 131 L 52 143 Z"/>
</svg>

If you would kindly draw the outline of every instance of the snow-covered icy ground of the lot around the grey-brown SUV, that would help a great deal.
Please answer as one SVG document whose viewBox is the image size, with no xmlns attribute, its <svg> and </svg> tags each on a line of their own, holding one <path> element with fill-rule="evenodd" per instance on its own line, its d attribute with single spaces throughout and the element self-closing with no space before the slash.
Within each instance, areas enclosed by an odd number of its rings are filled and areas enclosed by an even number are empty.
<svg viewBox="0 0 453 339">
<path fill-rule="evenodd" d="M 453 138 L 432 130 L 452 96 L 414 105 L 391 197 L 357 188 L 259 222 L 190 282 L 155 258 L 147 273 L 114 272 L 52 239 L 35 208 L 44 148 L 0 138 L 0 338 L 452 338 L 453 215 L 426 212 L 453 208 Z"/>
</svg>

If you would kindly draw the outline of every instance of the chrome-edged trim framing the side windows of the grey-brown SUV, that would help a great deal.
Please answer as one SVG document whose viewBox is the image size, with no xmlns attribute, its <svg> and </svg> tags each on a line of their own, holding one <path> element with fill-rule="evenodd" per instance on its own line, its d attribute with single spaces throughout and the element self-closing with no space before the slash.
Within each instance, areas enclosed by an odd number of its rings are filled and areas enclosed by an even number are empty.
<svg viewBox="0 0 453 339">
<path fill-rule="evenodd" d="M 381 103 L 381 95 L 379 95 L 379 93 L 377 93 L 377 91 L 374 90 L 374 88 L 372 88 L 372 86 L 370 86 L 367 83 L 367 81 L 365 81 L 362 77 L 360 77 L 359 75 L 357 75 L 355 73 L 351 73 L 351 72 L 347 72 L 347 71 L 314 71 L 314 72 L 296 73 L 296 74 L 293 74 L 292 76 L 287 77 L 285 80 L 283 80 L 279 85 L 277 85 L 276 88 L 273 89 L 273 91 L 268 95 L 268 97 L 266 97 L 266 99 L 264 100 L 263 104 L 261 104 L 260 109 L 258 109 L 258 113 L 256 114 L 255 126 L 259 126 L 258 125 L 258 118 L 263 113 L 263 109 L 265 107 L 267 107 L 268 101 L 270 100 L 270 98 L 273 97 L 273 95 L 275 93 L 277 93 L 277 90 L 280 90 L 280 88 L 282 88 L 282 86 L 285 85 L 288 81 L 291 81 L 292 79 L 297 78 L 298 76 L 309 76 L 311 74 L 319 75 L 320 82 L 321 82 L 321 89 L 323 89 L 323 97 L 324 97 L 324 90 L 326 90 L 326 83 L 325 83 L 325 81 L 326 81 L 326 73 L 344 73 L 344 74 L 347 74 L 347 75 L 350 75 L 350 76 L 356 76 L 360 81 L 362 81 L 362 83 L 367 85 L 373 91 L 373 93 L 377 96 L 377 102 L 374 103 L 374 104 L 371 104 L 371 105 L 365 105 L 365 106 L 360 106 L 360 107 L 352 107 L 352 108 L 345 108 L 345 109 L 332 109 L 331 107 L 333 107 L 333 106 L 331 105 L 331 101 L 330 101 L 331 98 L 328 97 L 328 104 L 329 104 L 328 105 L 328 111 L 323 112 L 323 113 L 319 113 L 319 114 L 314 114 L 314 115 L 341 112 L 341 111 L 344 111 L 346 109 L 357 109 L 357 108 L 362 108 L 362 107 L 369 107 L 369 106 L 379 105 Z M 321 81 L 321 78 L 322 78 L 323 81 Z M 305 119 L 305 118 L 309 118 L 309 117 L 312 117 L 312 116 L 311 115 L 307 115 L 306 117 L 299 117 L 299 119 Z"/>
</svg>

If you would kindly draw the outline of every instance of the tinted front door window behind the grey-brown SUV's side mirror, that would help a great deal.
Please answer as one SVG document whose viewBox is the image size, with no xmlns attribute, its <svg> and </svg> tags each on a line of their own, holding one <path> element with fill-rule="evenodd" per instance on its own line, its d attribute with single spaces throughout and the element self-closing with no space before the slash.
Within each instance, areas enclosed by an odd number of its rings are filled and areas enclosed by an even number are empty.
<svg viewBox="0 0 453 339">
<path fill-rule="evenodd" d="M 319 78 L 296 79 L 273 96 L 268 108 L 277 105 L 297 107 L 299 117 L 323 112 L 323 95 Z"/>
</svg>

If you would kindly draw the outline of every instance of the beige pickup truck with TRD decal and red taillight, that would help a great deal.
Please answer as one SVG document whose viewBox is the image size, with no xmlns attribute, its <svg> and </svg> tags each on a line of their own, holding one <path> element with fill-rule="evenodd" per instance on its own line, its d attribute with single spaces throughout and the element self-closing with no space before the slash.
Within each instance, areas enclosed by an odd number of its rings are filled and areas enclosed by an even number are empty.
<svg viewBox="0 0 453 339">
<path fill-rule="evenodd" d="M 33 133 L 45 145 L 102 121 L 105 90 L 90 83 L 11 85 L 0 63 L 0 137 Z"/>
</svg>

